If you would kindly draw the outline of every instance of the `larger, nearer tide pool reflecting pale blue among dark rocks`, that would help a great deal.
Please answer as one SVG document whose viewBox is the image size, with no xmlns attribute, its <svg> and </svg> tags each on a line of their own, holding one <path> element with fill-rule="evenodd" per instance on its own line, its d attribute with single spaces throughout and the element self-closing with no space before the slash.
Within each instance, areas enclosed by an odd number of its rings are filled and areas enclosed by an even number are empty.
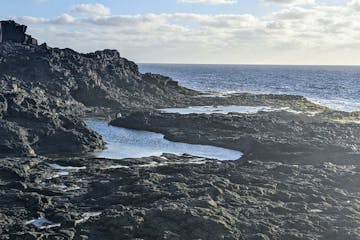
<svg viewBox="0 0 360 240">
<path fill-rule="evenodd" d="M 96 157 L 123 159 L 161 156 L 163 153 L 236 160 L 241 152 L 206 145 L 172 142 L 163 134 L 108 126 L 104 120 L 86 120 L 87 125 L 103 136 L 107 149 L 95 153 Z"/>
</svg>

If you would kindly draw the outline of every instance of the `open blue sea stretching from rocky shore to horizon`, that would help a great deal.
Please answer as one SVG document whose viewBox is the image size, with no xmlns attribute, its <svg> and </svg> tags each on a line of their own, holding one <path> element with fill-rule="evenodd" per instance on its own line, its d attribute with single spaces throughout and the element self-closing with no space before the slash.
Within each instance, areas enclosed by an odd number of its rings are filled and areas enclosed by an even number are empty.
<svg viewBox="0 0 360 240">
<path fill-rule="evenodd" d="M 140 64 L 203 92 L 302 95 L 343 111 L 360 111 L 360 66 Z"/>
</svg>

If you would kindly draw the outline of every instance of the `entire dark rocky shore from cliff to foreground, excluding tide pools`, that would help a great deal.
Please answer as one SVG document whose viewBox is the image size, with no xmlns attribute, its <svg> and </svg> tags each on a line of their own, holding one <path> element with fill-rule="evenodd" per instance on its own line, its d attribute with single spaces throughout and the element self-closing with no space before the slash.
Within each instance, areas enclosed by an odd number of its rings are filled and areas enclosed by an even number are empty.
<svg viewBox="0 0 360 240">
<path fill-rule="evenodd" d="M 360 239 L 358 112 L 301 96 L 209 96 L 115 50 L 46 44 L 0 43 L 0 86 L 0 239 Z M 278 110 L 159 110 L 212 105 Z M 91 157 L 105 143 L 83 118 L 109 115 L 244 156 Z"/>
</svg>

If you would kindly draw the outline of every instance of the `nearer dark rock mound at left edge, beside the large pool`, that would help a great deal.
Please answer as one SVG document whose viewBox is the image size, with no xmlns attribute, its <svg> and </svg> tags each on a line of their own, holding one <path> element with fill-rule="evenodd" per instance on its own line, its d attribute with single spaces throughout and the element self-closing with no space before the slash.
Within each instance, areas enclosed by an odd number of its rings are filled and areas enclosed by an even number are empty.
<svg viewBox="0 0 360 240">
<path fill-rule="evenodd" d="M 104 146 L 101 137 L 68 114 L 60 99 L 0 79 L 0 155 L 81 153 Z M 12 81 L 14 82 L 14 81 Z M 76 109 L 76 103 L 73 104 Z"/>
</svg>

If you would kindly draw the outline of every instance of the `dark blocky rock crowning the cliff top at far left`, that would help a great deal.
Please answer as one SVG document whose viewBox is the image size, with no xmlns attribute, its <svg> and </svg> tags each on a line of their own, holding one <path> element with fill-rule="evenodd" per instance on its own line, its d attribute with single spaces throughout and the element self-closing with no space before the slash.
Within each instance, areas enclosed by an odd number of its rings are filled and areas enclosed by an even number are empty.
<svg viewBox="0 0 360 240">
<path fill-rule="evenodd" d="M 20 25 L 12 20 L 0 21 L 0 43 L 16 42 L 37 45 L 37 40 L 25 34 L 27 26 Z"/>
</svg>

